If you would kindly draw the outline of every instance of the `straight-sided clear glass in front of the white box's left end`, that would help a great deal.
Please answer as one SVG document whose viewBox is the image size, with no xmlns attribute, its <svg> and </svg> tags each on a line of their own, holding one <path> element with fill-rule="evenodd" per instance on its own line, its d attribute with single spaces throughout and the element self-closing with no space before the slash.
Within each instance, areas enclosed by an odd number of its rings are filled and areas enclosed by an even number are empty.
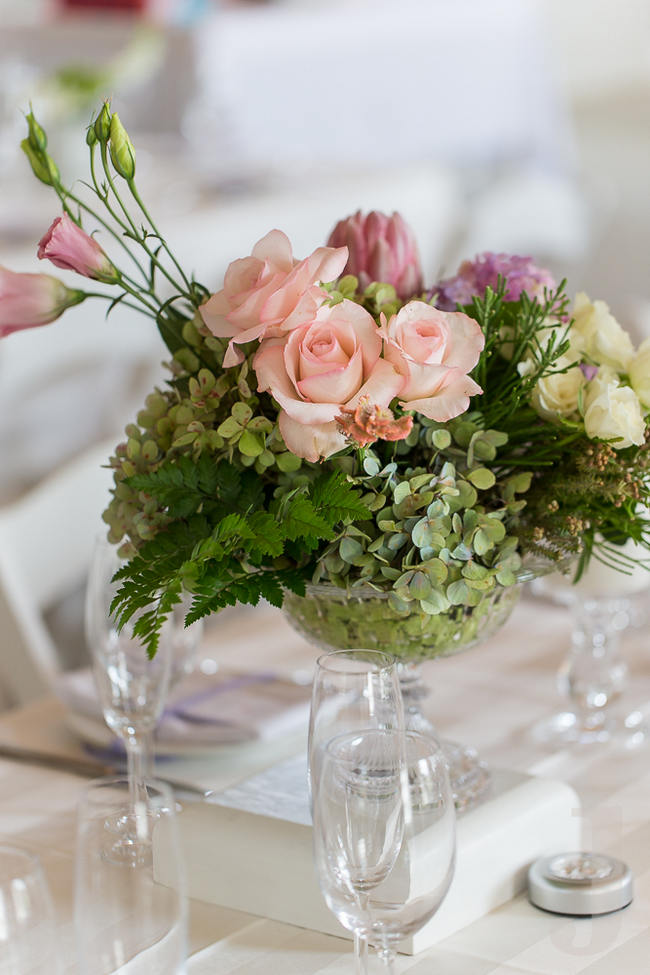
<svg viewBox="0 0 650 975">
<path fill-rule="evenodd" d="M 124 842 L 120 822 L 134 816 L 138 856 Z M 181 975 L 187 959 L 185 896 L 176 807 L 168 786 L 147 781 L 135 810 L 126 779 L 98 779 L 78 811 L 75 937 L 80 975 L 124 971 Z M 154 873 L 152 841 L 165 837 L 172 886 Z"/>
</svg>

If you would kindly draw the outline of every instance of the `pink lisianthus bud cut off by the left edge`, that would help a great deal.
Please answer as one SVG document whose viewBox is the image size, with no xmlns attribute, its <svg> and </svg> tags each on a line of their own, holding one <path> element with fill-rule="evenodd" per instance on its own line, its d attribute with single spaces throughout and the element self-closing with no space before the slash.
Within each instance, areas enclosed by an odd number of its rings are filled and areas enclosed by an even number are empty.
<svg viewBox="0 0 650 975">
<path fill-rule="evenodd" d="M 47 325 L 84 297 L 49 274 L 17 274 L 0 266 L 0 338 Z"/>
</svg>

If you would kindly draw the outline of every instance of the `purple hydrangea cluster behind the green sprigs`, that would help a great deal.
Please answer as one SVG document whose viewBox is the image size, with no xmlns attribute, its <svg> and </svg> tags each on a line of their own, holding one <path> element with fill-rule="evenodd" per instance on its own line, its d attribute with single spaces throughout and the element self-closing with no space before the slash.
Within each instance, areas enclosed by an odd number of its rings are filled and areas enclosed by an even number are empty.
<svg viewBox="0 0 650 975">
<path fill-rule="evenodd" d="M 488 285 L 496 290 L 499 275 L 507 282 L 506 301 L 517 301 L 523 291 L 531 298 L 541 298 L 544 288 L 555 287 L 551 274 L 537 267 L 532 258 L 486 251 L 473 261 L 463 261 L 458 273 L 438 282 L 431 294 L 438 295 L 438 308 L 453 311 L 456 305 L 468 305 L 474 295 L 482 297 Z"/>
</svg>

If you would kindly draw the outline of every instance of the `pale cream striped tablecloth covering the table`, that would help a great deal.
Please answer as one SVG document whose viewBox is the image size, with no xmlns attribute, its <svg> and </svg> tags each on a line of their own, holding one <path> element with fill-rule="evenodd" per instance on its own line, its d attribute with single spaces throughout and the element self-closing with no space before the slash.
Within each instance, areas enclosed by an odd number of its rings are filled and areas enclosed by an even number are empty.
<svg viewBox="0 0 650 975">
<path fill-rule="evenodd" d="M 647 598 L 647 597 L 646 597 Z M 555 670 L 569 641 L 566 609 L 524 599 L 485 645 L 426 665 L 429 713 L 448 737 L 480 746 L 494 765 L 564 779 L 583 804 L 584 846 L 627 861 L 635 899 L 596 919 L 547 914 L 520 896 L 415 957 L 410 975 L 644 975 L 650 972 L 650 743 L 637 734 L 590 746 L 549 746 L 535 724 L 558 710 Z M 210 631 L 214 655 L 229 665 L 293 672 L 313 667 L 314 651 L 268 608 L 227 615 Z M 628 630 L 631 679 L 626 711 L 650 712 L 648 629 Z M 81 754 L 62 706 L 46 698 L 0 716 L 0 743 Z M 302 743 L 304 744 L 304 742 Z M 301 747 L 284 741 L 240 746 L 209 758 L 165 763 L 170 777 L 215 787 L 245 778 Z M 0 761 L 0 842 L 38 853 L 56 903 L 59 950 L 74 972 L 72 887 L 75 806 L 85 782 L 72 775 Z M 498 850 L 495 850 L 498 856 Z M 279 878 L 280 880 L 280 878 Z M 191 902 L 189 975 L 345 975 L 350 942 L 236 911 Z M 19 975 L 19 973 L 17 973 Z"/>
</svg>

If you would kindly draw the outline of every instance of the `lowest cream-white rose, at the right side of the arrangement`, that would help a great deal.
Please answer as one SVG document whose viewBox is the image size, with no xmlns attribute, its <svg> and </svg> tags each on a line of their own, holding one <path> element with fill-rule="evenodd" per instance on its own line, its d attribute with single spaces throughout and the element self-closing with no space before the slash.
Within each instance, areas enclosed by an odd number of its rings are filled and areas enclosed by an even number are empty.
<svg viewBox="0 0 650 975">
<path fill-rule="evenodd" d="M 616 450 L 645 441 L 645 420 L 636 393 L 619 385 L 616 373 L 606 366 L 587 384 L 585 431 L 588 437 L 613 440 Z"/>
</svg>

